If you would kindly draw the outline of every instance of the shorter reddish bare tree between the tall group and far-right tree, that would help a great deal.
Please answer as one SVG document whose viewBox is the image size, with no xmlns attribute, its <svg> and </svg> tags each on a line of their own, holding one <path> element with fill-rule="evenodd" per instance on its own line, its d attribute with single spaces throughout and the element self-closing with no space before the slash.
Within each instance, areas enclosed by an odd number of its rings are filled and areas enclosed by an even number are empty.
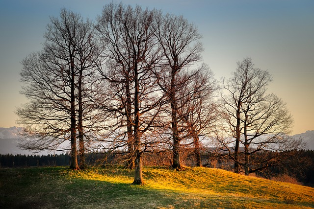
<svg viewBox="0 0 314 209">
<path fill-rule="evenodd" d="M 179 115 L 182 118 L 181 127 L 186 132 L 185 138 L 192 138 L 196 166 L 202 166 L 200 137 L 208 138 L 219 118 L 214 101 L 218 87 L 213 72 L 205 65 L 191 74 L 189 83 L 180 92 Z"/>
</svg>

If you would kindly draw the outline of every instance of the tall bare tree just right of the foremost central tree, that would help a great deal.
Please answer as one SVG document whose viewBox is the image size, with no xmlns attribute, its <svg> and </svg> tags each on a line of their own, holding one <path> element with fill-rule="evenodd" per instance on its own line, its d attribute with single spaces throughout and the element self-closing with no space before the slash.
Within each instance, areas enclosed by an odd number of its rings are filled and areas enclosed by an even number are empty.
<svg viewBox="0 0 314 209">
<path fill-rule="evenodd" d="M 180 89 L 188 82 L 188 79 L 181 79 L 180 74 L 184 74 L 183 71 L 201 60 L 203 51 L 199 42 L 201 35 L 197 28 L 182 16 L 162 15 L 160 11 L 155 11 L 155 22 L 155 35 L 163 51 L 160 71 L 156 71 L 155 74 L 160 88 L 169 100 L 173 139 L 172 167 L 180 170 L 183 167 L 180 163 L 178 101 Z"/>
</svg>

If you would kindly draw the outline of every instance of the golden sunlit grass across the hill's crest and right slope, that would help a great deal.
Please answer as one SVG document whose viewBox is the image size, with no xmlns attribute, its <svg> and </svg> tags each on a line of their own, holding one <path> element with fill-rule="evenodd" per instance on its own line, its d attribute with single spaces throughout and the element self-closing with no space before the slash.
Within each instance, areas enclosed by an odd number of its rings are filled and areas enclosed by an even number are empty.
<svg viewBox="0 0 314 209">
<path fill-rule="evenodd" d="M 133 173 L 126 169 L 92 168 L 88 171 L 63 172 L 69 179 L 102 181 L 129 185 L 133 189 L 158 191 L 166 196 L 176 196 L 183 203 L 196 208 L 201 207 L 202 202 L 215 202 L 218 208 L 281 208 L 282 204 L 291 209 L 296 206 L 307 208 L 302 206 L 302 202 L 307 202 L 309 208 L 314 206 L 314 188 L 238 175 L 221 169 L 186 167 L 184 171 L 176 171 L 145 167 L 144 186 L 131 185 Z"/>
</svg>

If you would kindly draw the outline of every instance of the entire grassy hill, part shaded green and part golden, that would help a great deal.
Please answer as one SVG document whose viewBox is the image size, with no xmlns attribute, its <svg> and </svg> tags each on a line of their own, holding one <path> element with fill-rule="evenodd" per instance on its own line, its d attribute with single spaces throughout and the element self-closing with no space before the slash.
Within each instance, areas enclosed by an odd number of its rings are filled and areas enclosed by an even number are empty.
<svg viewBox="0 0 314 209">
<path fill-rule="evenodd" d="M 144 167 L 144 186 L 121 168 L 1 168 L 0 208 L 306 209 L 314 188 L 189 167 Z"/>
</svg>

